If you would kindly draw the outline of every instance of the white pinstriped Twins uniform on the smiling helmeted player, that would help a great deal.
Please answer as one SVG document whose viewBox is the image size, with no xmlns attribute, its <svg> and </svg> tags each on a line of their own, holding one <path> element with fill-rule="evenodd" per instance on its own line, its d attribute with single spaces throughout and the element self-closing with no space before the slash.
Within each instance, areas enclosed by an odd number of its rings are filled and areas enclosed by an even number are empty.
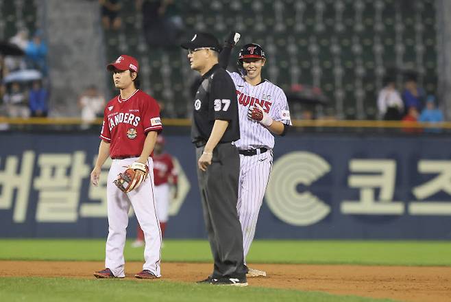
<svg viewBox="0 0 451 302">
<path fill-rule="evenodd" d="M 256 102 L 275 121 L 291 125 L 289 106 L 284 91 L 275 84 L 265 80 L 253 86 L 245 81 L 239 73 L 230 73 L 236 87 L 239 102 L 239 122 L 241 139 L 235 142 L 239 150 L 256 150 L 255 155 L 240 154 L 240 177 L 238 215 L 243 230 L 244 257 L 254 239 L 258 212 L 265 196 L 269 181 L 269 173 L 273 163 L 274 137 L 272 133 L 258 121 L 247 117 L 249 106 Z M 265 149 L 266 152 L 263 152 Z"/>
</svg>

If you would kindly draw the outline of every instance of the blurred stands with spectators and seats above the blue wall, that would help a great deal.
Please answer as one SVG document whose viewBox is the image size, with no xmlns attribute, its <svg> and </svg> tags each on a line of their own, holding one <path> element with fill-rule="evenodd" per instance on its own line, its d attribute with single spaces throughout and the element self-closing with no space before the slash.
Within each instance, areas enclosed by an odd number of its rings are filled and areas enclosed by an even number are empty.
<svg viewBox="0 0 451 302">
<path fill-rule="evenodd" d="M 117 93 L 105 66 L 129 54 L 162 117 L 188 118 L 196 74 L 180 41 L 236 30 L 230 69 L 240 45 L 262 45 L 263 76 L 293 119 L 446 121 L 449 2 L 0 0 L 0 117 L 80 117 L 89 128 Z"/>
</svg>

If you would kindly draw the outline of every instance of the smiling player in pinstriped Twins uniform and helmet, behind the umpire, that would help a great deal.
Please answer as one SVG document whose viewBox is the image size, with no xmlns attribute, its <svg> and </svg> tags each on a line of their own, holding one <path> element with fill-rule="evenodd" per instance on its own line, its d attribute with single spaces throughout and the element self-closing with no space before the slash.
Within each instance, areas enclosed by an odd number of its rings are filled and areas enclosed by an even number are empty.
<svg viewBox="0 0 451 302">
<path fill-rule="evenodd" d="M 223 66 L 227 65 L 224 62 L 228 62 L 230 51 L 239 39 L 239 34 L 236 35 L 226 40 L 219 61 Z M 273 163 L 273 135 L 284 136 L 291 126 L 284 91 L 261 77 L 265 62 L 262 47 L 247 44 L 239 52 L 237 62 L 242 74 L 229 72 L 239 102 L 241 139 L 235 142 L 241 161 L 237 209 L 243 231 L 245 258 L 254 239 L 258 212 L 269 181 Z M 249 268 L 247 277 L 257 276 L 266 276 L 266 272 Z"/>
</svg>

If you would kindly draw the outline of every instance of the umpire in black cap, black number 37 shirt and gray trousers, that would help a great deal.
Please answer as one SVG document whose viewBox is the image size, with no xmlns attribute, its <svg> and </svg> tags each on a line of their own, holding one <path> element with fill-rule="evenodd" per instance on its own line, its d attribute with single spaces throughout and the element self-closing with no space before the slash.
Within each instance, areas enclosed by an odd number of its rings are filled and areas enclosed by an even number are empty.
<svg viewBox="0 0 451 302">
<path fill-rule="evenodd" d="M 197 178 L 208 240 L 215 259 L 202 283 L 247 286 L 243 233 L 236 213 L 240 159 L 238 102 L 232 78 L 218 65 L 215 36 L 199 32 L 183 43 L 191 69 L 202 75 L 195 95 L 191 140 L 196 146 Z"/>
</svg>

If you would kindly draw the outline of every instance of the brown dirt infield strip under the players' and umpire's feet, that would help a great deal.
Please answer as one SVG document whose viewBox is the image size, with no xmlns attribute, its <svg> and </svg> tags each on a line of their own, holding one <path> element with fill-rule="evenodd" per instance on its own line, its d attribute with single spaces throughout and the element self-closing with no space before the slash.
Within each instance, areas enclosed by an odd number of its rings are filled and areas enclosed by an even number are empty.
<svg viewBox="0 0 451 302">
<path fill-rule="evenodd" d="M 249 286 L 314 290 L 331 294 L 390 298 L 399 301 L 451 301 L 450 267 L 256 264 L 268 277 L 249 278 Z M 164 263 L 162 279 L 194 282 L 204 279 L 212 264 Z M 103 262 L 0 261 L 0 277 L 93 278 Z M 127 278 L 142 269 L 127 262 Z"/>
</svg>

